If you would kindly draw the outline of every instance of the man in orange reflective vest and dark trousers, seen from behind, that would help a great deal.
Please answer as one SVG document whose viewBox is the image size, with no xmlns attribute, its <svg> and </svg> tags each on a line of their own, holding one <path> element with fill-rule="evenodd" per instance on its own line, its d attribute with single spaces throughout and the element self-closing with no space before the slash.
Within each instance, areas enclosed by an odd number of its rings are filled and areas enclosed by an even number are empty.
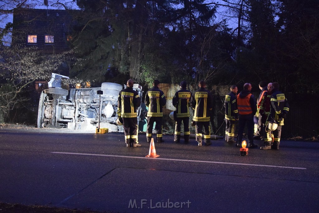
<svg viewBox="0 0 319 213">
<path fill-rule="evenodd" d="M 256 99 L 254 95 L 250 93 L 251 84 L 245 83 L 244 89 L 237 95 L 237 108 L 239 113 L 239 129 L 238 129 L 238 139 L 236 146 L 241 147 L 242 134 L 244 132 L 245 125 L 247 124 L 247 136 L 249 140 L 249 148 L 257 147 L 254 144 L 254 115 L 257 112 Z"/>
</svg>

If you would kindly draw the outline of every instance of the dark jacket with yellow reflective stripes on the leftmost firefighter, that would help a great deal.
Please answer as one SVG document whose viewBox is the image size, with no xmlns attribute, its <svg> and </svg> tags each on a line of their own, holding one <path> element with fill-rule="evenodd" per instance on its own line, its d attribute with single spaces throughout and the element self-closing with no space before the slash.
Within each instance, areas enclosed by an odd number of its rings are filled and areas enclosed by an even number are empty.
<svg viewBox="0 0 319 213">
<path fill-rule="evenodd" d="M 141 105 L 141 98 L 137 91 L 130 87 L 122 89 L 117 101 L 118 116 L 122 118 L 136 118 L 136 109 Z"/>
</svg>

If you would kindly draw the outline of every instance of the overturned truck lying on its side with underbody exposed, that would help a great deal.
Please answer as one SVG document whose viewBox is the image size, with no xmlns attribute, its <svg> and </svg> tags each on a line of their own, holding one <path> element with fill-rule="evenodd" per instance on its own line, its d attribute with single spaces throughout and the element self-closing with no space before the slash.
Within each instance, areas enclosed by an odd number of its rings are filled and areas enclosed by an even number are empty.
<svg viewBox="0 0 319 213">
<path fill-rule="evenodd" d="M 123 86 L 105 82 L 98 88 L 61 87 L 62 79 L 69 77 L 52 73 L 48 89 L 41 92 L 38 111 L 38 128 L 58 127 L 71 130 L 95 131 L 100 119 L 100 128 L 123 131 L 116 124 L 117 100 Z M 124 86 L 126 87 L 126 86 Z M 133 87 L 142 97 L 142 87 Z M 98 94 L 102 90 L 103 94 Z M 100 115 L 100 116 L 99 116 Z M 137 109 L 137 120 L 145 119 L 145 109 Z"/>
</svg>

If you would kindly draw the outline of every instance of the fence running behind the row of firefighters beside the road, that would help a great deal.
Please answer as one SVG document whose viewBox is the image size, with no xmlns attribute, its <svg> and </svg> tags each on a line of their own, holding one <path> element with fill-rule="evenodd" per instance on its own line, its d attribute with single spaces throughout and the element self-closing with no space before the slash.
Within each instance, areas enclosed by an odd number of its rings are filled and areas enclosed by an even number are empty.
<svg viewBox="0 0 319 213">
<path fill-rule="evenodd" d="M 172 99 L 176 91 L 180 90 L 177 84 L 159 84 L 159 88 L 163 90 L 167 103 L 163 110 L 164 128 L 168 132 L 174 130 L 174 120 L 169 118 L 169 113 L 175 110 Z M 195 89 L 190 88 L 193 92 Z M 225 135 L 225 109 L 224 98 L 229 93 L 229 86 L 213 87 L 213 97 L 215 108 L 211 118 L 211 129 L 213 134 Z M 259 93 L 253 93 L 255 97 Z M 319 95 L 311 94 L 285 94 L 288 99 L 290 110 L 285 119 L 285 125 L 282 127 L 282 138 L 293 138 L 296 136 L 311 138 L 319 135 L 319 112 L 315 107 Z M 192 110 L 191 110 L 192 111 Z M 192 118 L 192 115 L 191 115 Z M 190 119 L 191 119 L 190 118 Z M 238 128 L 237 128 L 238 130 Z M 190 126 L 191 133 L 195 133 L 195 129 Z"/>
</svg>

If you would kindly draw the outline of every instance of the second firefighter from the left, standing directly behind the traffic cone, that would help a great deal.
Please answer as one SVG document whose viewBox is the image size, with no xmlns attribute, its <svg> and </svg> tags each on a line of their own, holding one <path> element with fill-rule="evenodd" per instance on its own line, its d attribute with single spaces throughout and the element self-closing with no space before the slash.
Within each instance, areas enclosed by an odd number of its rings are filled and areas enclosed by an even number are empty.
<svg viewBox="0 0 319 213">
<path fill-rule="evenodd" d="M 145 105 L 148 107 L 147 112 L 147 142 L 151 142 L 154 122 L 157 142 L 163 142 L 162 123 L 163 107 L 166 105 L 166 97 L 162 90 L 159 89 L 159 80 L 153 81 L 153 88 L 148 90 L 145 95 Z"/>
</svg>

